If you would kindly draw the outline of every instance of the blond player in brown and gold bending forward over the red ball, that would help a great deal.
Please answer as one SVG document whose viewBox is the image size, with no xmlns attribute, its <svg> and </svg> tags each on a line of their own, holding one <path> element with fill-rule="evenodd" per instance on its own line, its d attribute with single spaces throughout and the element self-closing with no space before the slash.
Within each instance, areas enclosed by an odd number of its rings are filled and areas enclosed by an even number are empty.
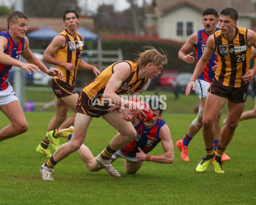
<svg viewBox="0 0 256 205">
<path fill-rule="evenodd" d="M 140 117 L 140 119 L 141 114 L 145 115 L 143 111 L 147 112 L 147 110 L 141 107 L 140 102 L 128 101 L 119 96 L 128 93 L 135 97 L 140 95 L 147 90 L 149 78 L 153 79 L 159 75 L 163 65 L 167 64 L 167 57 L 164 53 L 157 51 L 154 47 L 145 48 L 144 52 L 138 54 L 139 58 L 135 63 L 131 61 L 116 62 L 108 66 L 97 78 L 82 89 L 77 102 L 73 137 L 71 141 L 62 144 L 48 162 L 41 166 L 41 174 L 44 180 L 53 180 L 53 167 L 61 159 L 81 147 L 90 121 L 93 117 L 98 118 L 100 116 L 111 124 L 119 134 L 96 157 L 96 162 L 112 176 L 120 176 L 118 171 L 112 167 L 110 158 L 117 150 L 132 141 L 137 133 L 130 121 L 120 120 L 121 112 L 118 110 L 108 112 L 110 109 L 109 103 L 104 102 L 105 99 L 108 99 L 113 105 L 124 106 L 122 113 L 125 116 L 130 113 L 129 107 L 132 107 L 133 115 Z"/>
</svg>

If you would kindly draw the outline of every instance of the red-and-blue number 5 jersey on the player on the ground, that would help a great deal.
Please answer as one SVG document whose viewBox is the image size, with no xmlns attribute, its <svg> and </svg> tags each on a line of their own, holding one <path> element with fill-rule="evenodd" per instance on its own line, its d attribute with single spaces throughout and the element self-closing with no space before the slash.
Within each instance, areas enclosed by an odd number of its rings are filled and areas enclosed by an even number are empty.
<svg viewBox="0 0 256 205">
<path fill-rule="evenodd" d="M 139 124 L 134 127 L 137 131 L 137 136 L 132 142 L 121 149 L 122 154 L 128 157 L 136 157 L 136 153 L 139 152 L 138 147 L 140 147 L 145 154 L 153 150 L 161 141 L 159 131 L 165 124 L 163 119 L 159 119 L 153 127 L 146 128 L 143 121 L 140 121 Z"/>
</svg>

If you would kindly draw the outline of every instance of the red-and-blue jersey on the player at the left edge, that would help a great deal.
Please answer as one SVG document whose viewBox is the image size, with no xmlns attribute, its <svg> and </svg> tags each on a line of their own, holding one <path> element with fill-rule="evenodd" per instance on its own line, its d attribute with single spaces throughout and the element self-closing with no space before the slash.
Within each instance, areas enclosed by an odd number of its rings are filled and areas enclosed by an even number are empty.
<svg viewBox="0 0 256 205">
<path fill-rule="evenodd" d="M 12 58 L 19 60 L 24 50 L 25 38 L 20 39 L 20 41 L 15 44 L 8 31 L 0 32 L 0 36 L 3 36 L 8 40 L 4 53 L 11 56 Z M 0 91 L 6 90 L 9 86 L 8 73 L 10 69 L 12 69 L 11 65 L 0 64 Z"/>
</svg>

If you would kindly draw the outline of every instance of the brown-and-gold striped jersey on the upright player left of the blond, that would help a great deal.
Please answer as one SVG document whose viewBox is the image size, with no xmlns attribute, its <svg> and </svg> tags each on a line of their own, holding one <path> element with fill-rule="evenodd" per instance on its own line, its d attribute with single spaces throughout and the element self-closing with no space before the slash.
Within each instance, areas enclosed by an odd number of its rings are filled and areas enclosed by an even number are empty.
<svg viewBox="0 0 256 205">
<path fill-rule="evenodd" d="M 63 48 L 59 49 L 55 53 L 54 58 L 58 61 L 74 64 L 76 69 L 74 69 L 73 72 L 70 72 L 63 66 L 56 66 L 56 68 L 61 70 L 63 73 L 62 81 L 74 86 L 78 64 L 83 53 L 83 39 L 79 33 L 76 33 L 76 38 L 73 37 L 73 35 L 67 32 L 67 29 L 61 32 L 59 35 L 63 35 L 66 38 L 66 43 Z M 58 79 L 58 76 L 54 76 L 53 79 Z"/>
</svg>

